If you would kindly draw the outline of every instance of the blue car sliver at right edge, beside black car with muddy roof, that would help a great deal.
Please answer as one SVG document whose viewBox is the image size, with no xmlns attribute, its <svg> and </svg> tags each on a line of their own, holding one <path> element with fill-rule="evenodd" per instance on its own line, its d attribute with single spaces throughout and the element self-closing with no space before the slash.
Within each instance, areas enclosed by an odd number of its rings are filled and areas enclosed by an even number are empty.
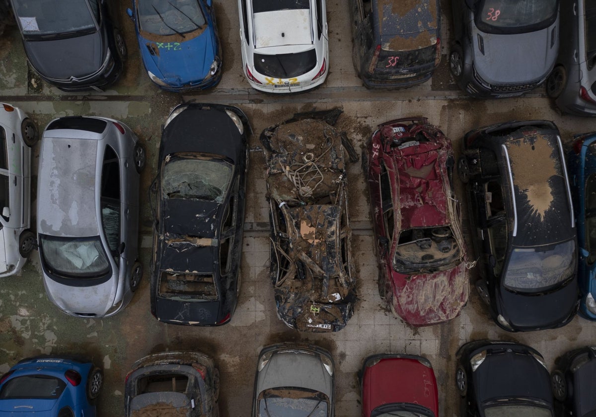
<svg viewBox="0 0 596 417">
<path fill-rule="evenodd" d="M 596 132 L 576 135 L 567 159 L 578 226 L 579 314 L 596 320 Z"/>
</svg>

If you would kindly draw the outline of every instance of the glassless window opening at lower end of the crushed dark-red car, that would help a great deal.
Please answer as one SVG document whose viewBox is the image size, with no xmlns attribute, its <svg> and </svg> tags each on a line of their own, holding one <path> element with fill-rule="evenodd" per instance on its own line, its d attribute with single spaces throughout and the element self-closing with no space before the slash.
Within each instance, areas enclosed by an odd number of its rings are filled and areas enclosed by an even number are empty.
<svg viewBox="0 0 596 417">
<path fill-rule="evenodd" d="M 393 268 L 401 273 L 455 266 L 460 245 L 449 226 L 406 229 L 399 234 Z"/>
</svg>

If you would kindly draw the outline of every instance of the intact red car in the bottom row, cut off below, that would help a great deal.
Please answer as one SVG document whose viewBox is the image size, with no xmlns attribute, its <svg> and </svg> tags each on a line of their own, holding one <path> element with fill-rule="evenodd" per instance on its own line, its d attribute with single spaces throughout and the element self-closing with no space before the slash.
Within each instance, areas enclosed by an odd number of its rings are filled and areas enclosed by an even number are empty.
<svg viewBox="0 0 596 417">
<path fill-rule="evenodd" d="M 378 354 L 362 369 L 362 416 L 439 416 L 437 381 L 429 360 Z"/>
</svg>

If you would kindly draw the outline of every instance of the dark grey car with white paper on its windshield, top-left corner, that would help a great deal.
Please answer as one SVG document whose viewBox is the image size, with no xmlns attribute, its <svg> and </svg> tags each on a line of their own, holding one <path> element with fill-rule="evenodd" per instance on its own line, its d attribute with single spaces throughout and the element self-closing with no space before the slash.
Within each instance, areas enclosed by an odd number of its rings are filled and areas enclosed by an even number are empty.
<svg viewBox="0 0 596 417">
<path fill-rule="evenodd" d="M 11 0 L 27 58 L 48 83 L 64 91 L 102 89 L 126 59 L 109 0 Z"/>
</svg>

